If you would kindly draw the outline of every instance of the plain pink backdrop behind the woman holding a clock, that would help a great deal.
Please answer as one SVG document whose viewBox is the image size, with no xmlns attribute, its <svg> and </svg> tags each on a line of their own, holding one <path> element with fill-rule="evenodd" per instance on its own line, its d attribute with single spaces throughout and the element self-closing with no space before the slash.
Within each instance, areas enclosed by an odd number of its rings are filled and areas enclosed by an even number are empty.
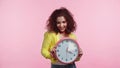
<svg viewBox="0 0 120 68">
<path fill-rule="evenodd" d="M 0 68 L 50 68 L 40 54 L 45 23 L 62 6 L 77 22 L 77 67 L 120 68 L 119 0 L 0 0 Z"/>
</svg>

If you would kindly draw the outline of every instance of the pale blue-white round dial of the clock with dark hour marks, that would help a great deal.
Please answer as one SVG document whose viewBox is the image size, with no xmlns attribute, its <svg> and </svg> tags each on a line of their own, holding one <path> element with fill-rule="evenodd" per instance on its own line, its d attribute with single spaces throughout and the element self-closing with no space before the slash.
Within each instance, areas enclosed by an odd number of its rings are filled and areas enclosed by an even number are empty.
<svg viewBox="0 0 120 68">
<path fill-rule="evenodd" d="M 56 45 L 56 57 L 62 63 L 72 63 L 78 56 L 78 43 L 72 39 L 63 39 Z"/>
</svg>

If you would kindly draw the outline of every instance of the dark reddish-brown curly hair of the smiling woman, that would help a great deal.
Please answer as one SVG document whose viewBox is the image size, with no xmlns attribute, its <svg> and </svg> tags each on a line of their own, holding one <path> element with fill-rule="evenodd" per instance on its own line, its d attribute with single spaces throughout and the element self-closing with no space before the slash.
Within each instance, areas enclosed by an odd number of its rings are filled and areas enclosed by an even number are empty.
<svg viewBox="0 0 120 68">
<path fill-rule="evenodd" d="M 59 32 L 56 19 L 60 16 L 63 16 L 67 21 L 67 28 L 65 30 L 66 34 L 70 34 L 71 32 L 76 30 L 76 22 L 73 19 L 72 13 L 68 9 L 61 7 L 60 9 L 54 10 L 53 13 L 50 15 L 47 21 L 48 31 L 54 31 L 55 33 Z"/>
</svg>

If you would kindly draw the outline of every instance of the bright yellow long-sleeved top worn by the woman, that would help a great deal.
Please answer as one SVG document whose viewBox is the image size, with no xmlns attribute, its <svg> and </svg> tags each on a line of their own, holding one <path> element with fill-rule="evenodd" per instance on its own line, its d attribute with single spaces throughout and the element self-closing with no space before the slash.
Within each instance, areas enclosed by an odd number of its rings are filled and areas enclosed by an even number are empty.
<svg viewBox="0 0 120 68">
<path fill-rule="evenodd" d="M 76 39 L 75 34 L 71 33 L 68 36 L 71 39 Z M 41 54 L 46 58 L 50 59 L 51 63 L 56 63 L 57 60 L 55 60 L 51 55 L 50 51 L 53 49 L 53 47 L 56 45 L 56 43 L 60 40 L 60 34 L 56 34 L 55 32 L 45 32 L 44 34 L 44 40 L 42 43 L 42 49 Z"/>
</svg>

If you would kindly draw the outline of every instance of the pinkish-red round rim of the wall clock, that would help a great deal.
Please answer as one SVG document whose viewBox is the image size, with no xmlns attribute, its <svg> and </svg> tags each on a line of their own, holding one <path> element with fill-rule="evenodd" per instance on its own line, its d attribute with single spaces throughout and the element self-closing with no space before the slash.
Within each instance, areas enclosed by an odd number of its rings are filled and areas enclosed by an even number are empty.
<svg viewBox="0 0 120 68">
<path fill-rule="evenodd" d="M 64 41 L 64 40 L 72 40 L 72 41 L 74 41 L 76 44 L 77 44 L 77 47 L 78 47 L 78 54 L 77 54 L 77 57 L 78 57 L 78 55 L 79 55 L 79 53 L 80 53 L 80 48 L 79 48 L 79 44 L 78 44 L 78 42 L 75 40 L 75 39 L 72 39 L 72 38 L 63 38 L 63 39 L 60 39 L 57 43 L 56 43 L 56 45 L 55 45 L 55 48 L 57 48 L 57 46 L 58 46 L 58 44 L 61 42 L 61 41 Z M 73 60 L 73 61 L 71 61 L 71 62 L 68 62 L 68 63 L 66 63 L 66 62 L 63 62 L 63 61 L 61 61 L 58 57 L 57 57 L 57 54 L 56 54 L 56 50 L 55 50 L 55 57 L 56 57 L 56 59 L 59 61 L 59 62 L 61 62 L 61 63 L 63 63 L 63 64 L 71 64 L 71 63 L 73 63 L 73 62 L 75 62 L 75 60 L 77 59 L 77 57 Z"/>
</svg>

